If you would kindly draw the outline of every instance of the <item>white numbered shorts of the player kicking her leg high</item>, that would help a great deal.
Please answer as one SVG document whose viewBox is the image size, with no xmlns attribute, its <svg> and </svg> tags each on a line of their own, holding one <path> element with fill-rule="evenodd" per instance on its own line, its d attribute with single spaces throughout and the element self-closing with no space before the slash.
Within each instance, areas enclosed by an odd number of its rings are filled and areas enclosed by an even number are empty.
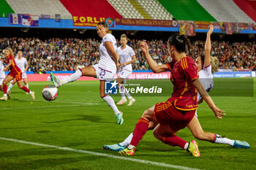
<svg viewBox="0 0 256 170">
<path fill-rule="evenodd" d="M 97 78 L 99 80 L 112 81 L 116 75 L 116 72 L 108 71 L 99 67 L 98 64 L 92 66 L 95 69 Z"/>
</svg>

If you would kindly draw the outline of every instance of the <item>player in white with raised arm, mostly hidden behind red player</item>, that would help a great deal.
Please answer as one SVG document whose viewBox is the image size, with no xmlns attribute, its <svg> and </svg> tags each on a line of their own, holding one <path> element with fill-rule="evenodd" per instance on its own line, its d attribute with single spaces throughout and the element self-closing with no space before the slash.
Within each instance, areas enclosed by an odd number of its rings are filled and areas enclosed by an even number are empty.
<svg viewBox="0 0 256 170">
<path fill-rule="evenodd" d="M 211 88 L 213 88 L 213 85 L 214 85 L 213 73 L 217 72 L 217 68 L 219 66 L 218 59 L 210 56 L 210 53 L 211 53 L 211 37 L 210 36 L 213 30 L 214 30 L 214 27 L 211 25 L 206 38 L 205 56 L 200 56 L 196 59 L 196 63 L 199 70 L 198 72 L 199 79 L 203 85 L 203 88 L 207 92 L 210 91 Z M 203 102 L 201 98 L 202 96 L 200 96 L 200 94 L 197 93 L 198 104 Z M 154 129 L 154 127 L 157 124 L 158 123 L 150 122 L 148 126 L 148 130 Z M 218 144 L 229 144 L 230 146 L 238 147 L 238 148 L 249 148 L 249 144 L 247 142 L 227 139 L 226 137 L 222 137 L 218 134 L 213 134 L 210 132 L 203 131 L 203 128 L 201 127 L 197 119 L 197 112 L 195 112 L 195 115 L 190 121 L 189 125 L 187 125 L 187 128 L 189 128 L 189 130 L 191 131 L 193 136 L 195 136 L 195 138 L 200 140 L 206 140 L 208 142 L 213 142 Z M 118 144 L 103 145 L 103 148 L 105 150 L 114 150 L 114 151 L 123 150 L 131 142 L 132 136 L 133 134 L 129 134 L 129 136 L 127 137 L 127 139 L 124 140 L 124 142 L 120 142 Z"/>
</svg>

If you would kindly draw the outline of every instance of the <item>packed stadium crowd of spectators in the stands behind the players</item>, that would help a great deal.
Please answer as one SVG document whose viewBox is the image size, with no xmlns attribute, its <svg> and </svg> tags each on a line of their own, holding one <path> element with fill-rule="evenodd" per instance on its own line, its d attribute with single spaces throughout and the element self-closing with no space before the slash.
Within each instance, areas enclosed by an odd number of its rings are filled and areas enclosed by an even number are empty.
<svg viewBox="0 0 256 170">
<path fill-rule="evenodd" d="M 1 38 L 0 52 L 11 47 L 15 54 L 23 51 L 23 56 L 29 63 L 28 71 L 72 71 L 78 66 L 91 66 L 99 61 L 98 39 L 52 38 L 40 40 L 38 38 Z M 204 53 L 204 41 L 188 42 L 192 58 Z M 129 44 L 137 57 L 133 64 L 134 70 L 149 69 L 146 60 L 142 57 L 140 40 L 132 39 Z M 151 56 L 157 63 L 167 63 L 167 42 L 153 39 L 148 41 Z M 119 46 L 119 45 L 118 45 Z M 219 58 L 219 68 L 222 69 L 252 69 L 256 70 L 256 42 L 212 42 L 211 55 Z"/>
</svg>

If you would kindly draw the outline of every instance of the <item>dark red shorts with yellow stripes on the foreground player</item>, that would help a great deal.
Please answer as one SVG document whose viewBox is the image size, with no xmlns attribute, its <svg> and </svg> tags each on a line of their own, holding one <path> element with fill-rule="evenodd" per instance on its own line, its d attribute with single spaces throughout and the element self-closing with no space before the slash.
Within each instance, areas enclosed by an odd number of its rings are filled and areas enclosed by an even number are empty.
<svg viewBox="0 0 256 170">
<path fill-rule="evenodd" d="M 195 115 L 195 110 L 183 111 L 176 109 L 170 101 L 157 103 L 154 107 L 154 117 L 161 125 L 168 125 L 173 134 L 186 128 Z"/>
</svg>

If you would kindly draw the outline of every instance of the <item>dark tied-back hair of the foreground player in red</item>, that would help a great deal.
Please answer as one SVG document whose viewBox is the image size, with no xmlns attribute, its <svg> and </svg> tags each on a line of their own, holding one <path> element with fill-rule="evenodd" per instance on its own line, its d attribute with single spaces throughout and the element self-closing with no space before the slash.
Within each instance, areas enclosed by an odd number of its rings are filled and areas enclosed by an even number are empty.
<svg viewBox="0 0 256 170">
<path fill-rule="evenodd" d="M 187 38 L 184 35 L 173 34 L 168 39 L 169 45 L 173 45 L 178 53 L 186 52 L 186 42 Z"/>
</svg>

